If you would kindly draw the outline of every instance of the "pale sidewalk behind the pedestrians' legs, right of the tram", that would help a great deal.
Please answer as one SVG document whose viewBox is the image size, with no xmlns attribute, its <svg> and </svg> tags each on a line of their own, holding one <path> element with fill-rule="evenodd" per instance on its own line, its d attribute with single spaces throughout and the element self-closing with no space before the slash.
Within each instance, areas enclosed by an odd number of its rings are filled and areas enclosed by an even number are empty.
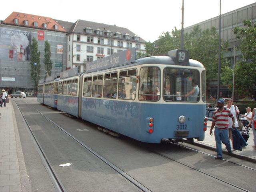
<svg viewBox="0 0 256 192">
<path fill-rule="evenodd" d="M 210 128 L 211 128 L 212 122 L 207 122 L 207 131 L 205 132 L 205 138 L 203 141 L 196 141 L 196 144 L 203 145 L 206 148 L 215 150 L 216 149 L 216 142 L 214 138 L 214 134 L 210 136 Z M 213 130 L 214 132 L 214 130 Z M 242 148 L 242 151 L 234 151 L 232 150 L 232 156 L 242 158 L 244 160 L 249 160 L 251 162 L 256 162 L 256 150 L 254 149 L 254 141 L 253 141 L 253 132 L 252 128 L 250 129 L 250 137 L 247 141 L 248 145 Z M 231 142 L 232 146 L 232 142 Z M 226 152 L 226 146 L 222 144 L 222 151 Z"/>
</svg>

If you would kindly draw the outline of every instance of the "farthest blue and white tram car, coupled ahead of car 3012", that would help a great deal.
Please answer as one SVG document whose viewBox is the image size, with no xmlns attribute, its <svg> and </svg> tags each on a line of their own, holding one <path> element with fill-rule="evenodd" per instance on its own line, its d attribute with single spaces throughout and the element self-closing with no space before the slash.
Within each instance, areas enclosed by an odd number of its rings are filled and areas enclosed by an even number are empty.
<svg viewBox="0 0 256 192">
<path fill-rule="evenodd" d="M 46 80 L 39 80 L 37 94 L 38 102 L 52 108 L 57 108 L 58 80 L 59 78 L 54 78 L 54 76 L 47 77 Z"/>
</svg>

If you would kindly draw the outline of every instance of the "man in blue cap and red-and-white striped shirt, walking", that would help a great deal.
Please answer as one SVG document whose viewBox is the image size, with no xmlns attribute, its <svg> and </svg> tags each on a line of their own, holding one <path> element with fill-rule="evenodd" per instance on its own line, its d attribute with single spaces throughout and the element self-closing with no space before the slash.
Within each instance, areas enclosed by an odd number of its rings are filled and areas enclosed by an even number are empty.
<svg viewBox="0 0 256 192">
<path fill-rule="evenodd" d="M 218 100 L 218 109 L 214 111 L 212 116 L 212 126 L 210 129 L 210 135 L 212 135 L 212 129 L 215 126 L 214 136 L 216 141 L 217 157 L 216 159 L 222 159 L 222 147 L 221 142 L 226 145 L 228 154 L 231 154 L 231 145 L 228 138 L 228 117 L 232 118 L 233 125 L 235 127 L 234 116 L 229 108 L 224 107 L 225 101 L 223 99 Z"/>
</svg>

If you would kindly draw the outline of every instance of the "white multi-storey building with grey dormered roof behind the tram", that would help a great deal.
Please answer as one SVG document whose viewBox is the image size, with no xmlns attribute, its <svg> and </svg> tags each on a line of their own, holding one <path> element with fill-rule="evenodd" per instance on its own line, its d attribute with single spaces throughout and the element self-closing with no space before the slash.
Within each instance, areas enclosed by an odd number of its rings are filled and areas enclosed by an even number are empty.
<svg viewBox="0 0 256 192">
<path fill-rule="evenodd" d="M 128 30 L 77 20 L 67 34 L 67 68 L 78 66 L 85 71 L 86 62 L 135 47 L 136 52 L 146 52 L 146 41 Z"/>
</svg>

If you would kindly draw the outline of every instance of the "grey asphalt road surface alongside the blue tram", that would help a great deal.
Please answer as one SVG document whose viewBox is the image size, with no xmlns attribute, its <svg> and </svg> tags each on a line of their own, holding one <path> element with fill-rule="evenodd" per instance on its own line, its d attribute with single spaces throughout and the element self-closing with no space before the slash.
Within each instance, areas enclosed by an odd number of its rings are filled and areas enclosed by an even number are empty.
<svg viewBox="0 0 256 192">
<path fill-rule="evenodd" d="M 139 190 L 38 114 L 30 105 L 151 191 L 242 191 L 226 182 L 247 191 L 255 191 L 256 171 L 254 170 L 230 162 L 215 160 L 212 156 L 169 143 L 147 144 L 125 136 L 116 138 L 100 132 L 94 124 L 77 118 L 69 118 L 58 110 L 42 106 L 36 102 L 35 98 L 16 99 L 16 101 L 67 191 Z M 22 101 L 26 101 L 30 105 Z M 16 116 L 18 115 L 16 111 Z M 22 131 L 24 135 L 24 130 Z M 20 129 L 19 132 L 21 132 Z M 41 170 L 43 168 L 40 161 L 31 162 L 31 154 L 27 150 L 30 150 L 32 146 L 23 144 L 26 140 L 28 140 L 26 137 L 21 136 L 28 173 L 34 174 L 33 169 L 35 167 L 41 167 Z M 215 154 L 210 150 L 204 151 Z M 232 157 L 230 159 L 256 168 L 255 164 Z M 58 166 L 68 162 L 73 163 L 73 165 L 69 167 Z M 190 167 L 184 166 L 184 164 Z M 51 191 L 53 188 L 47 179 L 47 174 L 42 172 L 42 175 L 42 178 L 45 178 L 44 184 L 38 181 L 38 177 L 35 177 L 32 178 L 32 186 L 39 186 L 44 189 L 45 185 L 49 189 L 47 191 Z"/>
</svg>

